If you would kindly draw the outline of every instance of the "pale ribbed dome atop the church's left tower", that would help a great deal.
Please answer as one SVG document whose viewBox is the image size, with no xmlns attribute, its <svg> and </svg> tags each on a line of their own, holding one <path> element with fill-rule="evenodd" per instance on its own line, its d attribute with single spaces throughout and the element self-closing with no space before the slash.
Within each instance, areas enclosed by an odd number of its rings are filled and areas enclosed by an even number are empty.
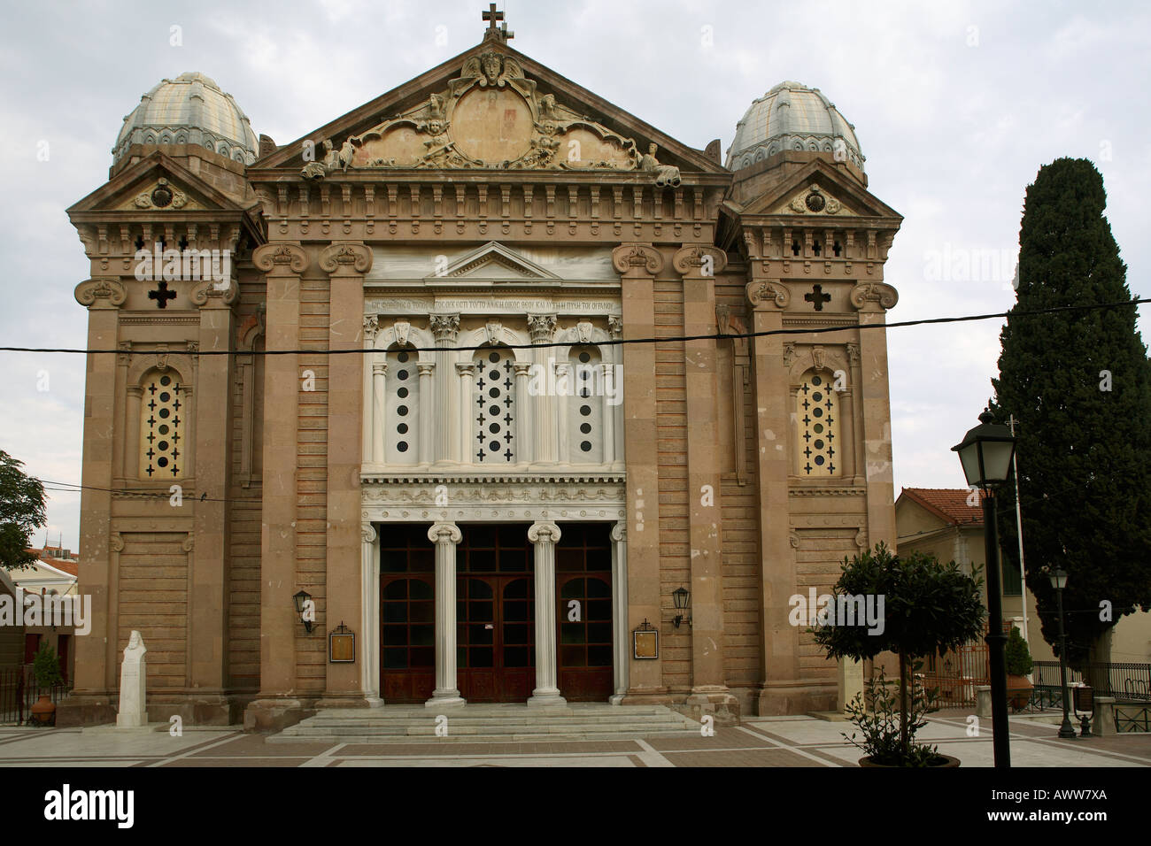
<svg viewBox="0 0 1151 846">
<path fill-rule="evenodd" d="M 162 79 L 124 117 L 112 148 L 119 162 L 132 144 L 198 144 L 233 161 L 251 165 L 260 148 L 247 115 L 204 74 Z"/>
</svg>

